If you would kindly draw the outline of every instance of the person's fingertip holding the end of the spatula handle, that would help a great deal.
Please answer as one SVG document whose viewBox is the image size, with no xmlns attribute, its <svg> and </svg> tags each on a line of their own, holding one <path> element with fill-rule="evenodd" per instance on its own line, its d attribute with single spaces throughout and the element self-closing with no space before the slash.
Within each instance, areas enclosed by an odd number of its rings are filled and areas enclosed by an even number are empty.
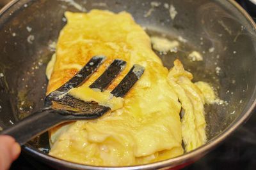
<svg viewBox="0 0 256 170">
<path fill-rule="evenodd" d="M 20 155 L 20 145 L 11 136 L 0 135 L 0 170 L 9 169 Z"/>
</svg>

